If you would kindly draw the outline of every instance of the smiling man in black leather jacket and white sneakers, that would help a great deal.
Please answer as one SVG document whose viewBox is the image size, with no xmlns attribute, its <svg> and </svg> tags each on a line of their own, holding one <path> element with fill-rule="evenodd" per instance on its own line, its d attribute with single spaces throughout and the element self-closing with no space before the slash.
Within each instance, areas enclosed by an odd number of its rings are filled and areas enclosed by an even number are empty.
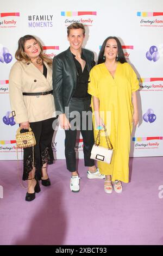
<svg viewBox="0 0 163 256">
<path fill-rule="evenodd" d="M 103 179 L 90 159 L 94 144 L 90 95 L 87 93 L 89 72 L 95 65 L 93 52 L 82 48 L 85 28 L 82 23 L 67 27 L 70 47 L 53 59 L 53 95 L 60 126 L 65 130 L 65 157 L 67 169 L 71 172 L 70 188 L 79 191 L 79 175 L 76 166 L 77 130 L 83 137 L 84 163 L 88 166 L 87 178 Z M 86 117 L 86 113 L 89 113 Z M 74 126 L 76 124 L 76 126 Z"/>
</svg>

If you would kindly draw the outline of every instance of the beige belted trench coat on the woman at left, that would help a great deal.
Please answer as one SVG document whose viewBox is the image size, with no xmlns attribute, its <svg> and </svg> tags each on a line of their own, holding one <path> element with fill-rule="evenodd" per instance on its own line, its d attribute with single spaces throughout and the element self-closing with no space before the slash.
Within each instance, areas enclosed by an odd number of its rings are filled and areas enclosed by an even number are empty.
<svg viewBox="0 0 163 256">
<path fill-rule="evenodd" d="M 36 122 L 55 117 L 52 94 L 24 96 L 22 93 L 52 90 L 52 69 L 46 63 L 47 78 L 30 62 L 16 62 L 9 75 L 9 96 L 12 115 L 16 123 Z"/>
</svg>

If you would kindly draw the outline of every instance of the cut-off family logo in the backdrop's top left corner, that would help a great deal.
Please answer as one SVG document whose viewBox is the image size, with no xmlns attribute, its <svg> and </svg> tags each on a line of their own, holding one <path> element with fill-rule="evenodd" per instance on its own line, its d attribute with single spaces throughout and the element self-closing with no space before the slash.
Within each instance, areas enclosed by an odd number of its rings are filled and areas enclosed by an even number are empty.
<svg viewBox="0 0 163 256">
<path fill-rule="evenodd" d="M 0 13 L 0 28 L 16 28 L 20 13 Z"/>
</svg>

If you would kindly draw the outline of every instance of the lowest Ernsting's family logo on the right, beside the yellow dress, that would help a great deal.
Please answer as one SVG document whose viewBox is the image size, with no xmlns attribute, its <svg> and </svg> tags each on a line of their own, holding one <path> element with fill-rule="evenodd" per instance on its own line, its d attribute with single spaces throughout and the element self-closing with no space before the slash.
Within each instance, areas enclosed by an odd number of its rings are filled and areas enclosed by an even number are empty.
<svg viewBox="0 0 163 256">
<path fill-rule="evenodd" d="M 133 137 L 135 149 L 159 149 L 163 137 Z"/>
</svg>

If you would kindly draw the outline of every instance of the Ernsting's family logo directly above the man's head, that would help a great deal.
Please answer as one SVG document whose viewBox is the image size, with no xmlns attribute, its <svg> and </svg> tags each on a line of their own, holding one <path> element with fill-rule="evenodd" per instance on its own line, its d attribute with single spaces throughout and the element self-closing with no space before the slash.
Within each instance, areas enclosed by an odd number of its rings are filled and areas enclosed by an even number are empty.
<svg viewBox="0 0 163 256">
<path fill-rule="evenodd" d="M 85 26 L 93 25 L 93 16 L 96 16 L 96 11 L 61 11 L 61 16 L 63 17 L 71 17 L 69 19 L 65 19 L 65 26 L 69 26 L 71 23 L 79 22 L 83 23 Z M 84 16 L 84 17 L 81 17 Z M 72 19 L 72 17 L 75 17 Z"/>
</svg>

